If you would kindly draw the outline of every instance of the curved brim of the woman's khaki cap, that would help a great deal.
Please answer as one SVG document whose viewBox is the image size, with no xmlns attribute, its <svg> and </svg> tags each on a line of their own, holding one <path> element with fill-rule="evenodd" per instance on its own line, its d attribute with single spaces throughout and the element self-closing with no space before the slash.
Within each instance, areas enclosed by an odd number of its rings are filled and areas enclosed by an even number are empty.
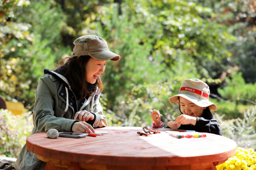
<svg viewBox="0 0 256 170">
<path fill-rule="evenodd" d="M 101 61 L 106 61 L 106 60 L 118 61 L 121 58 L 118 54 L 113 53 L 112 51 L 103 51 L 96 54 L 89 54 L 89 56 Z"/>
</svg>

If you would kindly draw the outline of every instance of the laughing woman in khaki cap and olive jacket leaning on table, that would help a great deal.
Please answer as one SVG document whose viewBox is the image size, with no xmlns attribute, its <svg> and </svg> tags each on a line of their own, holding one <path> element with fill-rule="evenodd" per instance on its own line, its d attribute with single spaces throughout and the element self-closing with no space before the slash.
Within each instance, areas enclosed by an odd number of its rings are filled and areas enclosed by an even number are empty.
<svg viewBox="0 0 256 170">
<path fill-rule="evenodd" d="M 35 92 L 32 134 L 55 128 L 59 132 L 95 132 L 107 126 L 99 97 L 102 92 L 100 75 L 107 60 L 120 56 L 109 51 L 107 42 L 95 35 L 74 41 L 72 57 L 59 62 L 57 69 L 44 70 Z M 22 148 L 14 165 L 16 170 L 42 170 L 46 163 Z"/>
</svg>

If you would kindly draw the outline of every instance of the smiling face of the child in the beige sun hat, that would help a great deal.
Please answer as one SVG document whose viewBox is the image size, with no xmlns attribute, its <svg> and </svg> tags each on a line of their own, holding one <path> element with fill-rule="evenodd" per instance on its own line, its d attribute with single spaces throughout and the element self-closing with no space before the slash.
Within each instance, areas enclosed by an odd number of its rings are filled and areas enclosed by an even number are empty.
<svg viewBox="0 0 256 170">
<path fill-rule="evenodd" d="M 183 114 L 193 117 L 201 117 L 206 107 L 200 107 L 186 98 L 180 97 L 180 106 Z"/>
</svg>

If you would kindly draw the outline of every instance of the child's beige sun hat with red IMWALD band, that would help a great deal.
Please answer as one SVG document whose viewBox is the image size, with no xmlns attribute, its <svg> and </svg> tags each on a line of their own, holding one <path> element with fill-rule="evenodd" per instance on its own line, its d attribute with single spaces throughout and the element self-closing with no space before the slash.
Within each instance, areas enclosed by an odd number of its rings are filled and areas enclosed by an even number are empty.
<svg viewBox="0 0 256 170">
<path fill-rule="evenodd" d="M 209 106 L 210 110 L 216 111 L 216 104 L 209 101 L 210 89 L 209 86 L 199 79 L 185 79 L 183 80 L 178 95 L 169 98 L 171 104 L 180 104 L 179 96 L 184 97 L 190 102 L 200 106 Z"/>
</svg>

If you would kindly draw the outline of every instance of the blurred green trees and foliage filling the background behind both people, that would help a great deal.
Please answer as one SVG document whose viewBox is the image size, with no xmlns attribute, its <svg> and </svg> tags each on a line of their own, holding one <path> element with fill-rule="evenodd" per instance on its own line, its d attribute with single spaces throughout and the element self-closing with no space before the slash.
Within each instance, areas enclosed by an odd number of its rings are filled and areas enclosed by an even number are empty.
<svg viewBox="0 0 256 170">
<path fill-rule="evenodd" d="M 43 69 L 94 34 L 121 56 L 102 77 L 110 126 L 151 126 L 149 109 L 175 119 L 168 97 L 190 78 L 209 84 L 223 122 L 243 119 L 256 104 L 255 10 L 254 0 L 4 0 L 0 95 L 31 110 Z"/>
</svg>

